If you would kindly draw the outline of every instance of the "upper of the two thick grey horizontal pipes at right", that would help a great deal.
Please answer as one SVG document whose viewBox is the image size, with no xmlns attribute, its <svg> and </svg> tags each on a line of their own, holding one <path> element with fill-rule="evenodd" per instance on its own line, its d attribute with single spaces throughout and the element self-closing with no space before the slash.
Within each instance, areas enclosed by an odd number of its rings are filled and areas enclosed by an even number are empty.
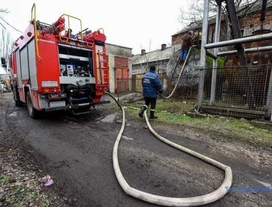
<svg viewBox="0 0 272 207">
<path fill-rule="evenodd" d="M 204 21 L 204 19 L 203 19 L 203 21 Z M 264 40 L 271 40 L 271 39 L 272 39 L 272 33 L 268 33 L 268 34 L 255 35 L 255 36 L 251 36 L 251 37 L 239 38 L 239 39 L 234 39 L 234 40 L 210 43 L 210 44 L 206 44 L 204 47 L 206 49 L 212 49 L 212 48 L 216 48 L 216 47 L 225 47 L 225 46 L 230 46 L 230 45 L 235 45 L 235 44 L 244 44 L 244 43 L 248 43 L 248 42 L 264 41 Z M 202 41 L 203 41 L 203 38 L 202 38 Z"/>
</svg>

